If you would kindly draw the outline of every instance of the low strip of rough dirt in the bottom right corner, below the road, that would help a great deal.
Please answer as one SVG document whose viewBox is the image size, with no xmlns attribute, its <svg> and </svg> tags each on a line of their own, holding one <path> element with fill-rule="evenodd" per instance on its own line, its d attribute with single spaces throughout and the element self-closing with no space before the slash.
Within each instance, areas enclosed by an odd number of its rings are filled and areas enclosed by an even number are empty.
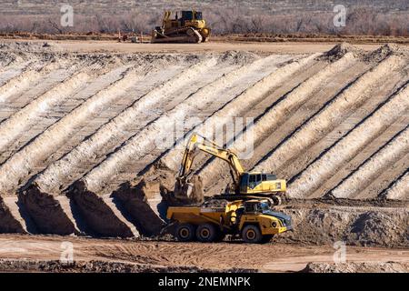
<svg viewBox="0 0 409 291">
<path fill-rule="evenodd" d="M 387 263 L 309 263 L 301 273 L 407 273 L 408 264 Z"/>
</svg>

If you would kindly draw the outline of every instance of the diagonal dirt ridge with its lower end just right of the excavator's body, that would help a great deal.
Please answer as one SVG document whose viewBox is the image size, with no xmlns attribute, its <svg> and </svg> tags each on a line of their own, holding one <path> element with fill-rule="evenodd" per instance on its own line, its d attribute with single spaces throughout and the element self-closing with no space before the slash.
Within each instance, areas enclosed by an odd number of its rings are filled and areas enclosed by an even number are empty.
<svg viewBox="0 0 409 291">
<path fill-rule="evenodd" d="M 394 94 L 387 103 L 369 115 L 348 135 L 328 149 L 291 183 L 288 195 L 310 196 L 328 177 L 334 175 L 339 166 L 353 158 L 376 135 L 394 123 L 409 107 L 409 85 Z"/>
</svg>

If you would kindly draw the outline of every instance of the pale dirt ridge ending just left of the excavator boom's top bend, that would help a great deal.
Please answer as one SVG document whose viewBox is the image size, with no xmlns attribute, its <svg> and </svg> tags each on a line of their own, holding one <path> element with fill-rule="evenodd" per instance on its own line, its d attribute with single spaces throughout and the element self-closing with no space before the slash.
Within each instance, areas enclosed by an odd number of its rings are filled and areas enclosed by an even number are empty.
<svg viewBox="0 0 409 291">
<path fill-rule="evenodd" d="M 213 129 L 217 123 L 223 124 L 223 122 L 227 121 L 229 118 L 242 115 L 247 107 L 251 106 L 256 100 L 260 101 L 261 98 L 268 94 L 272 88 L 282 84 L 286 78 L 294 75 L 298 70 L 300 70 L 300 68 L 308 64 L 312 65 L 317 56 L 318 54 L 310 55 L 305 58 L 295 60 L 288 65 L 284 65 L 272 74 L 265 76 L 260 82 L 246 89 L 243 94 L 238 95 L 230 103 L 224 105 L 213 115 L 210 115 L 207 119 L 205 119 L 203 124 L 197 125 L 188 131 L 185 134 L 185 138 L 177 141 L 174 148 L 169 150 L 169 152 L 167 152 L 165 156 L 161 158 L 162 164 L 173 171 L 177 171 L 178 167 L 180 166 L 180 160 L 182 158 L 185 145 L 193 132 L 211 136 L 213 133 L 207 133 L 205 132 L 205 129 Z"/>
</svg>

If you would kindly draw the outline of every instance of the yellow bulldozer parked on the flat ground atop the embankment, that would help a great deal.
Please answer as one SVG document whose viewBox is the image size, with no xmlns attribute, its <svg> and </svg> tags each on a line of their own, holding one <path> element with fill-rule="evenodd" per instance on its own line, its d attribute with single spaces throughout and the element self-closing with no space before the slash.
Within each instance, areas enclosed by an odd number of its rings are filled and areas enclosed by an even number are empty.
<svg viewBox="0 0 409 291">
<path fill-rule="evenodd" d="M 162 26 L 152 32 L 152 43 L 204 43 L 209 40 L 211 29 L 207 27 L 202 12 L 190 10 L 165 11 Z"/>
</svg>

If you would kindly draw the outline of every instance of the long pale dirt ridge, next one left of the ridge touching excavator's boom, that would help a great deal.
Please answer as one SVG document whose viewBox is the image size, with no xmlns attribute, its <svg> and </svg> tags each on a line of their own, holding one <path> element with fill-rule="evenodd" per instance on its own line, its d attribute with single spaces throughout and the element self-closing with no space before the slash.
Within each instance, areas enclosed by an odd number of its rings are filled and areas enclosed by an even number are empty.
<svg viewBox="0 0 409 291">
<path fill-rule="evenodd" d="M 125 146 L 120 147 L 112 156 L 108 156 L 103 163 L 89 172 L 84 178 L 87 189 L 98 193 L 110 183 L 109 189 L 106 190 L 107 192 L 110 192 L 117 185 L 116 181 L 119 181 L 120 183 L 132 179 L 128 177 L 118 178 L 118 176 L 121 175 L 121 170 L 123 170 L 128 163 L 137 160 L 141 165 L 139 169 L 137 166 L 135 169 L 135 165 L 131 167 L 127 166 L 129 171 L 137 172 L 145 167 L 147 164 L 146 162 L 151 161 L 152 163 L 152 161 L 155 160 L 155 157 L 159 156 L 161 152 L 165 152 L 167 145 L 155 144 L 156 142 L 162 142 L 157 139 L 158 136 L 163 138 L 164 136 L 168 136 L 166 133 L 174 132 L 175 120 L 183 121 L 185 116 L 197 115 L 199 112 L 204 114 L 204 109 L 209 110 L 210 104 L 212 104 L 212 107 L 210 107 L 211 109 L 209 111 L 217 110 L 217 108 L 220 107 L 220 103 L 226 103 L 229 101 L 229 98 L 231 100 L 236 96 L 235 92 L 240 90 L 239 85 L 242 87 L 246 85 L 243 78 L 247 75 L 252 75 L 250 74 L 251 72 L 260 72 L 261 68 L 268 67 L 269 62 L 270 64 L 274 64 L 274 58 L 276 58 L 275 55 L 257 60 L 251 65 L 246 65 L 228 75 L 224 75 L 224 77 L 220 78 L 214 84 L 205 86 L 196 92 L 195 95 L 191 95 L 186 99 L 184 103 L 177 105 L 172 111 L 159 117 L 153 123 L 145 127 L 140 133 L 130 138 L 125 143 Z M 270 67 L 270 69 L 272 68 Z M 263 77 L 263 75 L 261 77 Z M 257 82 L 257 80 L 252 82 Z M 226 84 L 229 84 L 229 87 L 225 88 L 224 86 Z M 223 101 L 220 100 L 220 96 L 223 95 L 221 94 L 223 93 L 223 90 L 229 90 L 230 88 L 234 88 L 234 93 L 232 94 L 231 92 L 227 97 L 224 97 Z M 219 98 L 216 99 L 217 97 Z M 201 100 L 201 102 L 197 103 L 197 100 Z M 215 101 L 218 103 L 215 103 Z M 161 147 L 161 145 L 164 145 L 163 149 L 158 148 Z M 154 155 L 152 155 L 153 151 L 155 151 Z M 130 174 L 135 175 L 132 173 Z M 113 181 L 114 179 L 115 182 Z"/>
</svg>

